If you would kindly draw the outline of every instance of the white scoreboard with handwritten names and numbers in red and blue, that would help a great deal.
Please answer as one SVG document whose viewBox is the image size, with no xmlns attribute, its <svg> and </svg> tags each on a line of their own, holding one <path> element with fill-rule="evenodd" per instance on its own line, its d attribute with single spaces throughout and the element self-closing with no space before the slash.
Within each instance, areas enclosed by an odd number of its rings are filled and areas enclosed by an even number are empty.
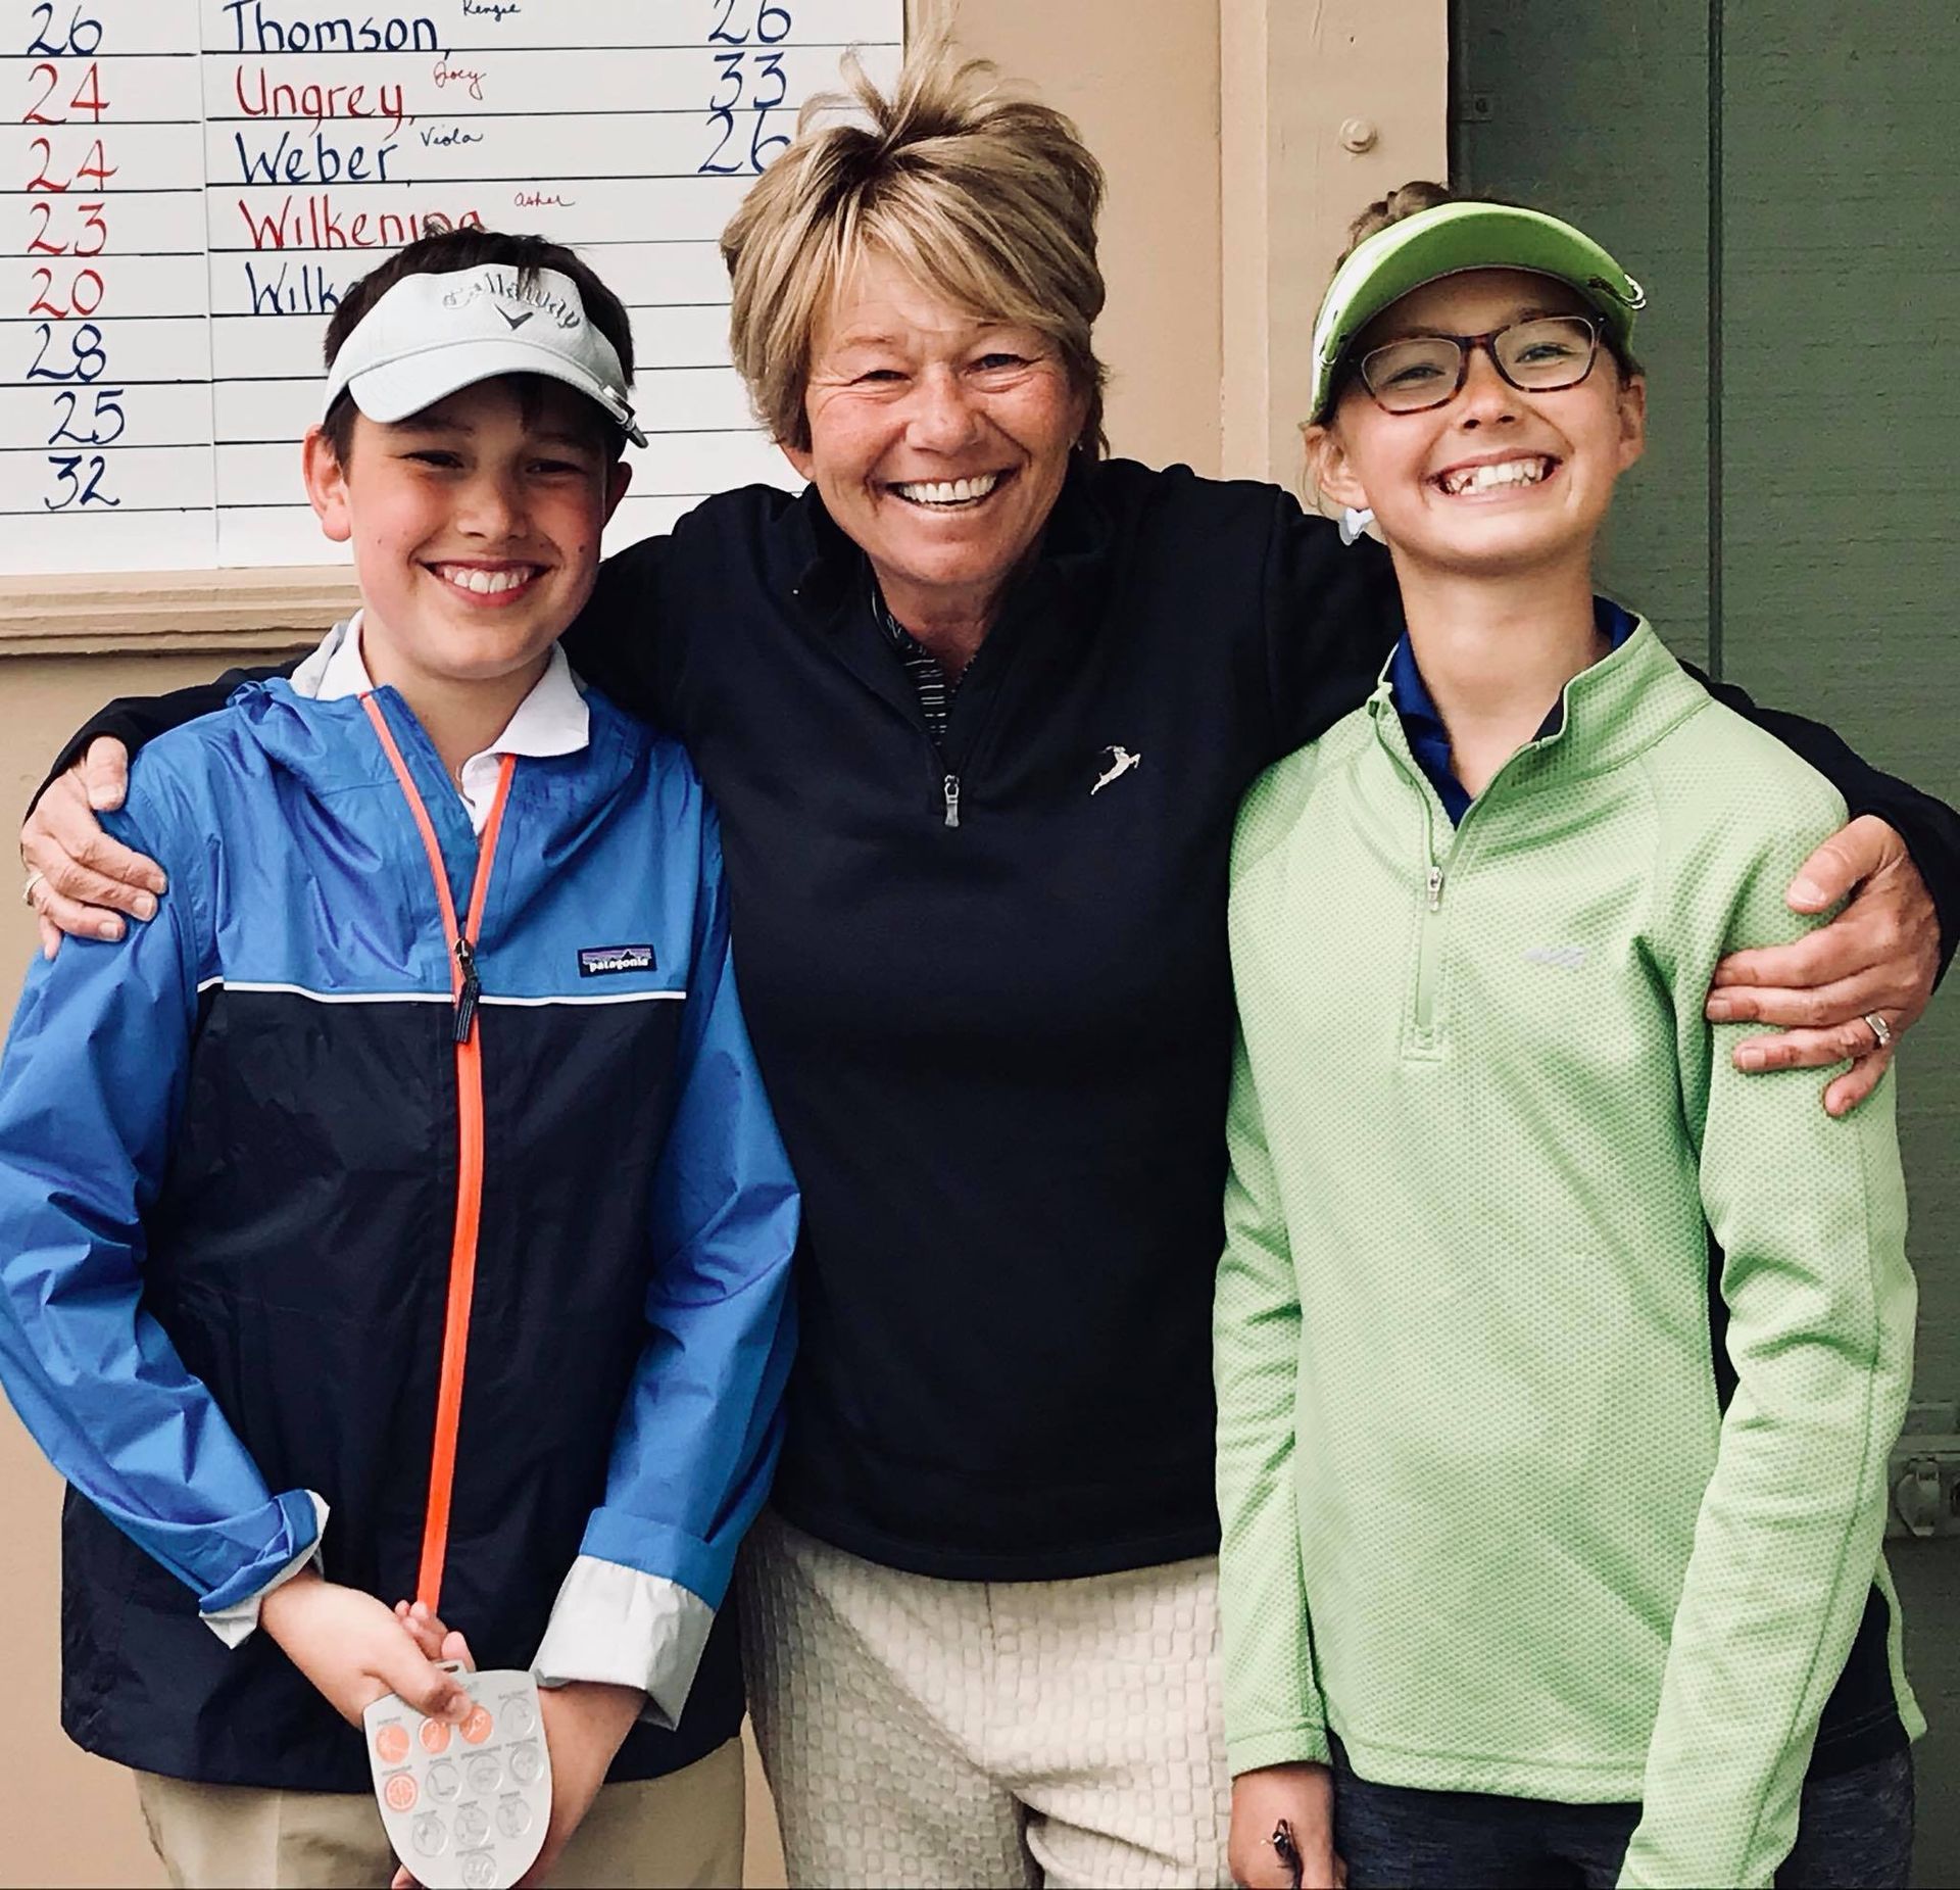
<svg viewBox="0 0 1960 1890">
<path fill-rule="evenodd" d="M 0 572 L 321 565 L 298 441 L 349 282 L 463 224 L 576 247 L 649 445 L 610 545 L 794 484 L 715 237 L 904 0 L 0 0 Z"/>
</svg>

